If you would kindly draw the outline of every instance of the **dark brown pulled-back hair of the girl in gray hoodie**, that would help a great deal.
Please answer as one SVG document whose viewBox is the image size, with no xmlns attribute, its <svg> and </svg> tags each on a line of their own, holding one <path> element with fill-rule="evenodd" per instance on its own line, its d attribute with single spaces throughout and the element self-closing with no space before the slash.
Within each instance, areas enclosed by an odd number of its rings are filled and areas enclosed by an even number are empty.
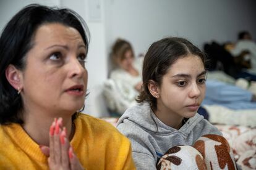
<svg viewBox="0 0 256 170">
<path fill-rule="evenodd" d="M 137 102 L 148 102 L 150 103 L 151 110 L 155 111 L 157 109 L 156 99 L 150 94 L 148 84 L 150 81 L 154 81 L 160 86 L 163 76 L 168 72 L 171 65 L 176 60 L 184 58 L 189 54 L 200 57 L 204 67 L 206 67 L 206 55 L 191 42 L 187 41 L 187 39 L 171 37 L 151 44 L 143 61 L 143 86 Z"/>
</svg>

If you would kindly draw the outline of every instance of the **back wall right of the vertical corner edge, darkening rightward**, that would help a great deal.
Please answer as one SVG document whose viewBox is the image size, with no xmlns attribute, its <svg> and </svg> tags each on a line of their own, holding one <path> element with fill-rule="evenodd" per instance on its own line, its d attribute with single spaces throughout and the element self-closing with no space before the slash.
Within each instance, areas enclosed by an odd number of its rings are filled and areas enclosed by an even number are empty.
<svg viewBox="0 0 256 170">
<path fill-rule="evenodd" d="M 132 42 L 135 54 L 165 36 L 182 36 L 198 47 L 205 41 L 236 41 L 237 32 L 256 37 L 254 0 L 109 0 L 107 47 L 118 37 Z M 108 51 L 109 52 L 109 51 Z"/>
</svg>

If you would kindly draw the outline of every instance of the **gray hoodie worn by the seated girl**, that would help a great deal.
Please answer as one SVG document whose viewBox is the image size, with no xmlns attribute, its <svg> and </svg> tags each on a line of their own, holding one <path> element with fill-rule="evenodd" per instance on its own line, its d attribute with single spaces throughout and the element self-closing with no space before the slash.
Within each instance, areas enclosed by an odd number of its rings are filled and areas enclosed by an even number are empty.
<svg viewBox="0 0 256 170">
<path fill-rule="evenodd" d="M 156 126 L 157 124 L 157 126 Z M 156 169 L 156 163 L 167 150 L 176 145 L 193 145 L 205 134 L 222 136 L 218 129 L 198 113 L 180 129 L 158 119 L 148 103 L 126 110 L 117 122 L 117 129 L 132 143 L 132 156 L 137 169 Z"/>
</svg>

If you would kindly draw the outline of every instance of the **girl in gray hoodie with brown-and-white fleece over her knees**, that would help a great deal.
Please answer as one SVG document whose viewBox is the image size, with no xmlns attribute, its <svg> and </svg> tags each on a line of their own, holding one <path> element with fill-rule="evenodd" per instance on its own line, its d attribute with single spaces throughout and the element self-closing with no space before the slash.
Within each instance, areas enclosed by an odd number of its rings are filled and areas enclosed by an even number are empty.
<svg viewBox="0 0 256 170">
<path fill-rule="evenodd" d="M 221 132 L 197 113 L 205 97 L 205 60 L 183 38 L 164 38 L 148 49 L 139 104 L 117 123 L 132 143 L 137 169 L 237 169 Z"/>
</svg>

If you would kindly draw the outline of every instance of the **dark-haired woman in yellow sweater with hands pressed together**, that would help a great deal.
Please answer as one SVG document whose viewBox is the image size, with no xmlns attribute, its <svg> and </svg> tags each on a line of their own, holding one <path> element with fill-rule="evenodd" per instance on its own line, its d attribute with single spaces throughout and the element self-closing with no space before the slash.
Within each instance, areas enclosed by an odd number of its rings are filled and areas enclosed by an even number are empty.
<svg viewBox="0 0 256 170">
<path fill-rule="evenodd" d="M 7 23 L 0 38 L 0 169 L 134 169 L 129 140 L 79 112 L 88 37 L 69 9 L 32 4 Z"/>
</svg>

